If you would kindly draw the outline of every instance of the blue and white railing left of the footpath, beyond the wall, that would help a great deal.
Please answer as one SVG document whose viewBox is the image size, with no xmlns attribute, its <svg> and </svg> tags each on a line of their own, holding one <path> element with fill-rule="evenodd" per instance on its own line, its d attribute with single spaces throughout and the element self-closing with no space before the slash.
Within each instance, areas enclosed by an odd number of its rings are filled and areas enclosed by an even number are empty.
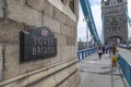
<svg viewBox="0 0 131 87">
<path fill-rule="evenodd" d="M 78 51 L 79 61 L 84 60 L 85 58 L 87 58 L 88 55 L 93 54 L 94 52 L 96 52 L 96 48 L 79 50 Z"/>
</svg>

